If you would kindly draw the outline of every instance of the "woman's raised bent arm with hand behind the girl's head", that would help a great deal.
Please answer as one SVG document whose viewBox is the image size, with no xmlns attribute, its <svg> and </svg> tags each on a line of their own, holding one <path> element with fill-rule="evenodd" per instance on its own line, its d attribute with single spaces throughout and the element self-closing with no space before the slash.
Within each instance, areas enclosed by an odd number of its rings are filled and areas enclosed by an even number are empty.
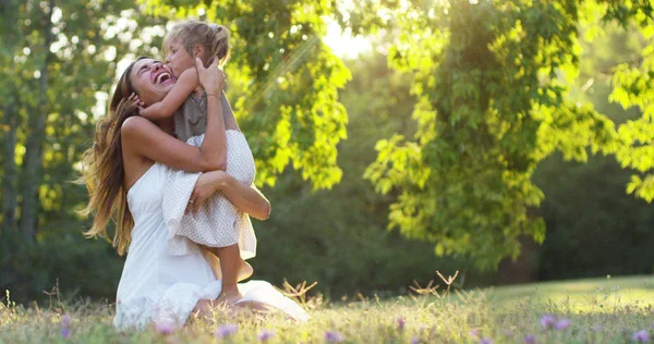
<svg viewBox="0 0 654 344">
<path fill-rule="evenodd" d="M 196 61 L 199 82 L 207 94 L 219 94 L 225 86 L 225 75 L 217 63 L 204 69 Z M 121 143 L 134 153 L 187 172 L 225 170 L 227 138 L 222 123 L 222 108 L 217 97 L 207 97 L 207 132 L 202 146 L 194 147 L 166 134 L 150 121 L 131 116 L 121 127 Z M 220 148 L 220 149 L 217 149 Z"/>
</svg>

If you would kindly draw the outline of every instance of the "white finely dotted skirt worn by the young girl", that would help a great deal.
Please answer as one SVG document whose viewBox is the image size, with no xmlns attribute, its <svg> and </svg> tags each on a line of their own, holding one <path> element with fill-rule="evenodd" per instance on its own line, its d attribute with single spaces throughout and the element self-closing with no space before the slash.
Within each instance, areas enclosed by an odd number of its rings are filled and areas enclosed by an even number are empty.
<svg viewBox="0 0 654 344">
<path fill-rule="evenodd" d="M 255 165 L 252 150 L 245 136 L 239 131 L 226 131 L 227 174 L 239 182 L 254 182 Z M 198 147 L 204 135 L 193 136 L 186 144 Z M 207 198 L 195 216 L 185 216 L 184 210 L 195 182 L 201 173 L 170 170 L 164 196 L 164 220 L 168 225 L 168 253 L 183 256 L 196 251 L 193 243 L 209 247 L 227 247 L 239 244 L 241 257 L 250 259 L 256 255 L 256 236 L 250 217 L 240 211 L 221 194 Z"/>
</svg>

